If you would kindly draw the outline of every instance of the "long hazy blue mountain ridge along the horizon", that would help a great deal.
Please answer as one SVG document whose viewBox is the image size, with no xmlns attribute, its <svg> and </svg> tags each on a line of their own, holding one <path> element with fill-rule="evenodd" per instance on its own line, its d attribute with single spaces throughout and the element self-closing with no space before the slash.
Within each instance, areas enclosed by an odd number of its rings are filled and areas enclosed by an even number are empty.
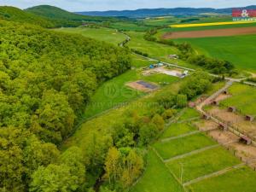
<svg viewBox="0 0 256 192">
<path fill-rule="evenodd" d="M 174 8 L 174 9 L 137 9 L 137 10 L 109 10 L 109 11 L 84 11 L 76 12 L 80 15 L 90 16 L 124 16 L 124 17 L 147 17 L 165 15 L 199 15 L 204 13 L 231 15 L 232 9 L 212 9 L 212 8 Z M 238 9 L 238 8 L 237 8 Z M 251 5 L 239 9 L 256 9 L 256 5 Z"/>
</svg>

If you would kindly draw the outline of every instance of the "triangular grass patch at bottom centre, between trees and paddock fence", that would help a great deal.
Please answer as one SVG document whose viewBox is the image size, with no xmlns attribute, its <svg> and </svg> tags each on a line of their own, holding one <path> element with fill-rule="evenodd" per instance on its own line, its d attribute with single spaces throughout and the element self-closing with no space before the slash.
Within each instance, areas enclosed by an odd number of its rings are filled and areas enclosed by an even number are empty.
<svg viewBox="0 0 256 192">
<path fill-rule="evenodd" d="M 165 164 L 154 154 L 151 149 L 148 152 L 148 167 L 143 177 L 131 188 L 131 192 L 183 192 L 183 188 L 170 172 Z"/>
</svg>

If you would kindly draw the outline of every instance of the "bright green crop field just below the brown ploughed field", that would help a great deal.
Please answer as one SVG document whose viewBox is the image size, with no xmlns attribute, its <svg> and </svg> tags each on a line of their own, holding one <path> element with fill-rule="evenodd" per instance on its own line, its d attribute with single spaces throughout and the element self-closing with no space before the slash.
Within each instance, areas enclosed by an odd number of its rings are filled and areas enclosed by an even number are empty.
<svg viewBox="0 0 256 192">
<path fill-rule="evenodd" d="M 216 38 L 183 38 L 175 42 L 188 42 L 201 54 L 231 61 L 237 68 L 256 72 L 256 35 Z"/>
</svg>

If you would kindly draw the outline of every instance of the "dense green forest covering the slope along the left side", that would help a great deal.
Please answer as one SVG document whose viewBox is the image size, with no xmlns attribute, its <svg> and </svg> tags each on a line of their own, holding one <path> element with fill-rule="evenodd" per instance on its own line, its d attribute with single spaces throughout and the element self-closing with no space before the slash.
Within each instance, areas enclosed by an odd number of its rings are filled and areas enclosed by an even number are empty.
<svg viewBox="0 0 256 192">
<path fill-rule="evenodd" d="M 60 157 L 56 146 L 73 131 L 97 86 L 130 62 L 127 50 L 110 44 L 0 20 L 0 190 L 27 190 L 32 173 L 52 162 L 62 162 L 61 169 L 49 166 L 44 173 L 55 170 L 72 182 L 68 175 L 78 170 L 69 164 L 79 165 L 81 156 L 70 158 L 78 149 Z"/>
</svg>

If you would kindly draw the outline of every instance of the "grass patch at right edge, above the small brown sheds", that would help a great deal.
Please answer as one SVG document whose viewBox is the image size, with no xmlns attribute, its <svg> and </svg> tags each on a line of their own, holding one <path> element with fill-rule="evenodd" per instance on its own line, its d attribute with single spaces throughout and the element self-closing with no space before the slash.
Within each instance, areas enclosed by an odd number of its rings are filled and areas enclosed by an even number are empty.
<svg viewBox="0 0 256 192">
<path fill-rule="evenodd" d="M 242 114 L 256 115 L 256 89 L 245 84 L 233 84 L 230 89 L 231 97 L 220 102 L 225 107 L 234 106 Z"/>
</svg>

